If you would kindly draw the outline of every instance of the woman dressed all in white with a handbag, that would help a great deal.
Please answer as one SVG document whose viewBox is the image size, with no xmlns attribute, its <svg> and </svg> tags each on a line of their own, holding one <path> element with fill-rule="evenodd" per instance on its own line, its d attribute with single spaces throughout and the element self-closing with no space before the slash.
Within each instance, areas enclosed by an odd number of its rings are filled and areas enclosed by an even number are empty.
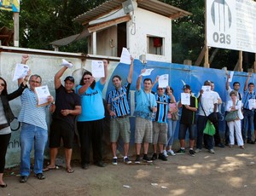
<svg viewBox="0 0 256 196">
<path fill-rule="evenodd" d="M 239 119 L 227 122 L 230 129 L 230 147 L 232 147 L 235 143 L 235 140 L 234 140 L 234 128 L 235 128 L 237 145 L 241 149 L 244 149 L 243 147 L 244 143 L 241 136 L 241 119 L 243 118 L 243 115 L 241 113 L 241 101 L 237 99 L 237 92 L 235 90 L 232 90 L 230 92 L 230 97 L 231 97 L 231 100 L 228 101 L 226 105 L 226 111 L 227 112 L 237 111 L 237 114 L 239 117 Z"/>
</svg>

